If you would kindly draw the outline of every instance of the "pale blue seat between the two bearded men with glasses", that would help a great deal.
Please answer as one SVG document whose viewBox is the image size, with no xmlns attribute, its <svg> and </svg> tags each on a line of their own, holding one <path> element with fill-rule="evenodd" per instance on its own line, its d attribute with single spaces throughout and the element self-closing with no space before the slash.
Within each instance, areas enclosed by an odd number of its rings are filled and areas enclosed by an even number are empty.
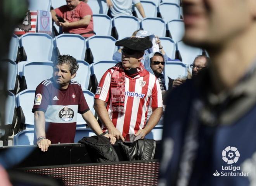
<svg viewBox="0 0 256 186">
<path fill-rule="evenodd" d="M 184 64 L 179 60 L 167 61 L 164 65 L 164 78 L 167 89 L 169 83 L 168 77 L 176 79 L 179 75 L 187 76 L 187 64 Z"/>
</svg>

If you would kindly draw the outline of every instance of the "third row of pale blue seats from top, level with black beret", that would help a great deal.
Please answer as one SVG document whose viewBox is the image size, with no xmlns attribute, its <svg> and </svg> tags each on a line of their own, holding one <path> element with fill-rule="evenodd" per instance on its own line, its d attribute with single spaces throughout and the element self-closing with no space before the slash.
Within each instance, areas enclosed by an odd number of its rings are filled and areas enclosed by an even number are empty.
<svg viewBox="0 0 256 186">
<path fill-rule="evenodd" d="M 168 57 L 175 59 L 175 52 L 179 50 L 183 63 L 191 64 L 202 51 L 168 37 L 160 40 Z M 118 49 L 115 42 L 116 39 L 112 36 L 92 36 L 85 39 L 78 34 L 61 34 L 52 39 L 44 33 L 27 33 L 20 38 L 13 35 L 8 58 L 12 61 L 53 61 L 57 55 L 69 54 L 77 60 L 85 60 L 91 64 L 111 61 L 112 55 Z M 22 70 L 22 65 L 20 66 L 19 72 Z"/>
</svg>

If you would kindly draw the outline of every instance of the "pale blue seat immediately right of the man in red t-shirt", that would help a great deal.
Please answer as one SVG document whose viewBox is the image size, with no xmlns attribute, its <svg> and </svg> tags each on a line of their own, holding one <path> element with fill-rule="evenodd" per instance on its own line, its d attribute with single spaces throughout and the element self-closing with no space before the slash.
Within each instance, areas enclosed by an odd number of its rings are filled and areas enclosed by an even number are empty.
<svg viewBox="0 0 256 186">
<path fill-rule="evenodd" d="M 112 20 L 104 14 L 93 14 L 93 30 L 98 36 L 110 36 Z"/>
</svg>

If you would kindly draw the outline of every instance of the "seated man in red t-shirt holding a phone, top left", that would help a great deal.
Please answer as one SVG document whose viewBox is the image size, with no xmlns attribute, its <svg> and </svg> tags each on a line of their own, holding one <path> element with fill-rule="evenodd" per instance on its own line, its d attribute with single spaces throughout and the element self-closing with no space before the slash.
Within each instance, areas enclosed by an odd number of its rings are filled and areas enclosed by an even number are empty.
<svg viewBox="0 0 256 186">
<path fill-rule="evenodd" d="M 51 10 L 52 19 L 62 27 L 64 33 L 80 34 L 85 38 L 93 36 L 92 9 L 85 2 L 66 0 L 67 5 Z M 58 18 L 63 18 L 61 22 Z"/>
</svg>

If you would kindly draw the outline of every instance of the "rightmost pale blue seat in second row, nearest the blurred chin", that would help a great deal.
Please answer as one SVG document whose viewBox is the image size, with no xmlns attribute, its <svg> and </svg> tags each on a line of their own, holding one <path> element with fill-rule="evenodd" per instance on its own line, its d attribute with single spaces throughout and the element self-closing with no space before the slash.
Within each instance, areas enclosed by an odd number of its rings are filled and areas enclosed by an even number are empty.
<svg viewBox="0 0 256 186">
<path fill-rule="evenodd" d="M 167 27 L 171 33 L 171 38 L 175 43 L 182 40 L 185 33 L 185 26 L 182 19 L 169 21 Z"/>
</svg>

